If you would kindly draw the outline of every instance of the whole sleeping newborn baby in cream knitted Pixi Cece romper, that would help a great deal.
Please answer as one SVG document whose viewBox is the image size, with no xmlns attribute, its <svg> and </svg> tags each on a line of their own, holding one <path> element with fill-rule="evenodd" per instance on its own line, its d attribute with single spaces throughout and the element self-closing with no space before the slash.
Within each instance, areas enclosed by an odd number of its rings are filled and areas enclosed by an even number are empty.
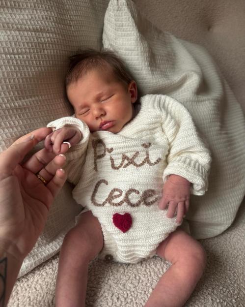
<svg viewBox="0 0 245 307">
<path fill-rule="evenodd" d="M 74 199 L 84 209 L 63 241 L 56 306 L 85 306 L 96 256 L 136 263 L 158 255 L 172 266 L 146 307 L 181 307 L 205 267 L 205 251 L 180 229 L 190 193 L 208 187 L 209 150 L 191 115 L 165 95 L 137 96 L 136 82 L 109 51 L 71 57 L 65 79 L 74 116 L 48 124 L 47 150 L 66 153 Z"/>
</svg>

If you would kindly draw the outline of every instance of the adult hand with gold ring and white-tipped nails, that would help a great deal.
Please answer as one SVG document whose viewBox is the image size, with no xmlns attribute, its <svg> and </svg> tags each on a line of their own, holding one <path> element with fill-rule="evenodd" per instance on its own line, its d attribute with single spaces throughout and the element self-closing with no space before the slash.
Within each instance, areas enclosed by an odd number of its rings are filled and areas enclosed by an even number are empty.
<svg viewBox="0 0 245 307">
<path fill-rule="evenodd" d="M 0 154 L 0 249 L 19 260 L 37 241 L 50 205 L 66 180 L 60 169 L 64 155 L 55 156 L 42 149 L 21 164 L 25 155 L 51 132 L 51 128 L 37 129 Z"/>
</svg>

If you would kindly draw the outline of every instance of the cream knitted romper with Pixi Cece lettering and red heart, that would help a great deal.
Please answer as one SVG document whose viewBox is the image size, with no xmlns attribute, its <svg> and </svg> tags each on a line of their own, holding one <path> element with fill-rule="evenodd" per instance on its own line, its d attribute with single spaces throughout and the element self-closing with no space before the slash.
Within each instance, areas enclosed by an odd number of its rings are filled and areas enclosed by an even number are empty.
<svg viewBox="0 0 245 307">
<path fill-rule="evenodd" d="M 141 109 L 123 129 L 89 133 L 82 121 L 68 117 L 49 123 L 56 129 L 76 125 L 82 141 L 67 154 L 74 199 L 101 224 L 100 257 L 136 263 L 152 257 L 178 226 L 158 208 L 170 174 L 192 183 L 191 193 L 207 190 L 210 154 L 196 133 L 188 111 L 164 95 L 146 95 Z M 84 212 L 84 211 L 82 211 Z"/>
</svg>

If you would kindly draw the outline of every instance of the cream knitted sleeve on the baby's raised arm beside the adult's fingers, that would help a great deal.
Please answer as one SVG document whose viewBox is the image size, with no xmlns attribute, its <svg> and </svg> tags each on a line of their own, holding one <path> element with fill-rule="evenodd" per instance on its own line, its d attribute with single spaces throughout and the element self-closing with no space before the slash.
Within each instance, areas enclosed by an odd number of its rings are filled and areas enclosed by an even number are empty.
<svg viewBox="0 0 245 307">
<path fill-rule="evenodd" d="M 77 184 L 82 175 L 82 167 L 85 161 L 90 132 L 86 123 L 72 116 L 63 117 L 47 124 L 47 127 L 53 127 L 55 130 L 64 126 L 76 126 L 82 132 L 81 141 L 65 153 L 65 169 L 68 174 L 67 180 L 73 184 Z"/>
</svg>

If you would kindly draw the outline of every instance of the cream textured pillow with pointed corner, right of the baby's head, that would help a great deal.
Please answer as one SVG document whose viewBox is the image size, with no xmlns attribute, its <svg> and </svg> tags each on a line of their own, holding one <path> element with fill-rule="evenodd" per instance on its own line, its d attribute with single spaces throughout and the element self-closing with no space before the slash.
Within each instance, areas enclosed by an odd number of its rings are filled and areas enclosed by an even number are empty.
<svg viewBox="0 0 245 307">
<path fill-rule="evenodd" d="M 131 70 L 142 94 L 164 93 L 191 113 L 211 149 L 209 190 L 193 196 L 187 216 L 196 238 L 224 231 L 245 194 L 242 109 L 204 48 L 158 30 L 131 0 L 110 0 L 103 44 Z"/>
</svg>

